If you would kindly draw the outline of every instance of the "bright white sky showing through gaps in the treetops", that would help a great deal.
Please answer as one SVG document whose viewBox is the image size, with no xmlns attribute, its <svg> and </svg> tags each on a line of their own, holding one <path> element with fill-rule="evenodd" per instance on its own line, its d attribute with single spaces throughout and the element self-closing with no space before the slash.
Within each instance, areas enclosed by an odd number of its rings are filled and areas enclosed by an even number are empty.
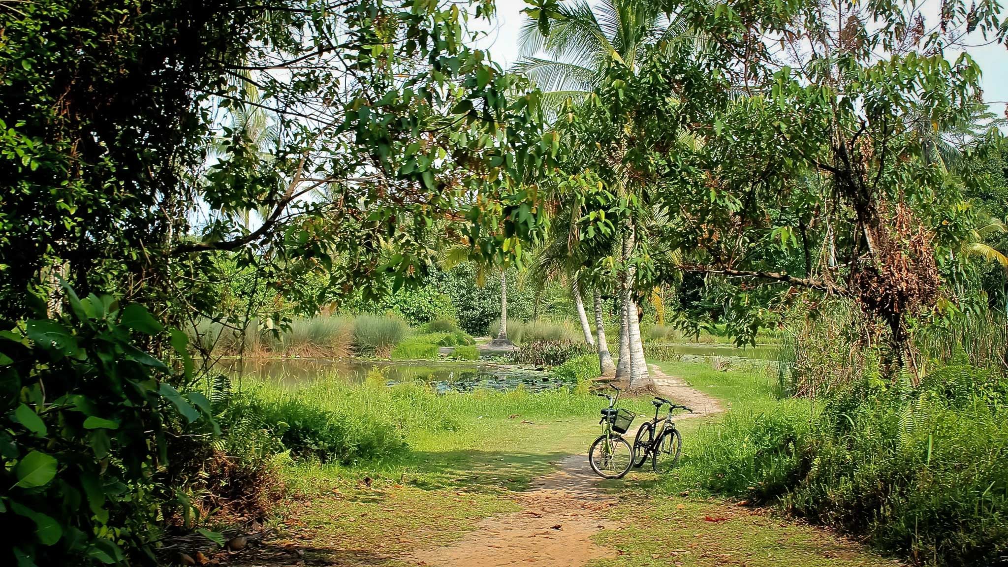
<svg viewBox="0 0 1008 567">
<path fill-rule="evenodd" d="M 594 0 L 592 3 L 595 3 Z M 920 3 L 927 27 L 933 25 L 936 19 L 938 3 L 938 0 L 924 0 Z M 496 4 L 495 21 L 491 24 L 485 20 L 478 20 L 473 22 L 472 29 L 487 32 L 486 36 L 476 42 L 477 46 L 489 50 L 492 59 L 507 69 L 519 59 L 519 34 L 521 24 L 526 18 L 521 10 L 527 4 L 524 0 L 497 0 Z M 971 44 L 984 42 L 980 34 L 975 35 L 975 38 L 971 38 Z M 1008 48 L 1004 44 L 991 43 L 970 47 L 968 50 L 984 72 L 981 81 L 984 100 L 991 103 L 992 112 L 1002 115 L 1008 102 Z M 956 55 L 958 53 L 949 53 L 950 58 Z"/>
</svg>

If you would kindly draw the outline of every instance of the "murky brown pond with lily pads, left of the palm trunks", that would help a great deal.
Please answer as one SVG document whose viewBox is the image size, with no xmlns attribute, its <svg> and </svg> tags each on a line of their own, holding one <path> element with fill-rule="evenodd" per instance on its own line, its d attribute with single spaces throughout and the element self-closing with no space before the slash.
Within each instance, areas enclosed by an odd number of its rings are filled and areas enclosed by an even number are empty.
<svg viewBox="0 0 1008 567">
<path fill-rule="evenodd" d="M 542 370 L 491 362 L 438 360 L 368 360 L 360 358 L 272 358 L 221 360 L 233 373 L 268 378 L 296 386 L 317 380 L 339 379 L 361 383 L 378 372 L 388 385 L 424 381 L 438 391 L 476 389 L 511 390 L 519 386 L 532 391 L 564 385 Z"/>
</svg>

